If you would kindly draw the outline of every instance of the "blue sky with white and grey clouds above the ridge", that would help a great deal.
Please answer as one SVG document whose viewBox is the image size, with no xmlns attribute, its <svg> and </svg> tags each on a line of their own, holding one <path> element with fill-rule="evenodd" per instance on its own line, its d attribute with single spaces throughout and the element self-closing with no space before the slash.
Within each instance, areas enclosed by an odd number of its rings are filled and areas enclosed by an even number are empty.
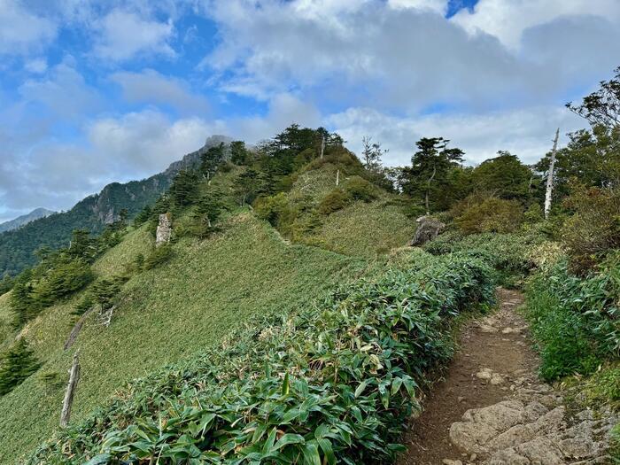
<svg viewBox="0 0 620 465">
<path fill-rule="evenodd" d="M 0 221 L 292 122 L 533 163 L 618 43 L 618 0 L 0 0 Z"/>
</svg>

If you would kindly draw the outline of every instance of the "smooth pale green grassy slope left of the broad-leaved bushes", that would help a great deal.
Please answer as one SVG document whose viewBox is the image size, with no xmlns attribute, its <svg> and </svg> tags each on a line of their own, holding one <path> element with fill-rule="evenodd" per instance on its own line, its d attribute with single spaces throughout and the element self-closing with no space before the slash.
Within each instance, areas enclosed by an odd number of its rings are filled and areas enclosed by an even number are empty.
<svg viewBox="0 0 620 465">
<path fill-rule="evenodd" d="M 119 273 L 124 263 L 150 247 L 143 229 L 129 233 L 97 261 L 97 274 Z M 182 240 L 174 252 L 170 262 L 126 284 L 128 298 L 108 329 L 96 322 L 82 329 L 74 345 L 80 348 L 82 366 L 74 421 L 129 379 L 217 344 L 248 316 L 306 306 L 366 267 L 364 260 L 283 244 L 273 229 L 248 213 L 230 217 L 224 231 L 210 240 Z M 45 310 L 25 330 L 37 355 L 46 360 L 42 372 L 65 376 L 71 353 L 63 353 L 62 345 L 77 298 Z M 63 391 L 62 386 L 43 386 L 35 375 L 0 398 L 0 462 L 12 463 L 50 435 L 58 424 Z"/>
</svg>

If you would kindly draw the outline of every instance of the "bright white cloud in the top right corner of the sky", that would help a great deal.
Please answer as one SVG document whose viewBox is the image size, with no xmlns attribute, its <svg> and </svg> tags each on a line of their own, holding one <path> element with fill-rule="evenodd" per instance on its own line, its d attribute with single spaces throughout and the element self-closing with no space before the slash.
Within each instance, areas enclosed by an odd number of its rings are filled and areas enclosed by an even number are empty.
<svg viewBox="0 0 620 465">
<path fill-rule="evenodd" d="M 562 16 L 599 16 L 617 21 L 617 0 L 479 0 L 474 12 L 461 10 L 451 19 L 470 34 L 494 35 L 512 49 L 518 48 L 523 31 Z"/>
</svg>

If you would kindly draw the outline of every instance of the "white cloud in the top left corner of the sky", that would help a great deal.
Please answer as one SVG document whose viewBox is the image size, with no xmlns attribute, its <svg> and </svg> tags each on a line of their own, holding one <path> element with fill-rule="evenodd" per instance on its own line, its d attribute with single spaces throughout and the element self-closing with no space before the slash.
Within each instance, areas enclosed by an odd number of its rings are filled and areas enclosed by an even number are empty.
<svg viewBox="0 0 620 465">
<path fill-rule="evenodd" d="M 0 54 L 25 54 L 42 49 L 57 34 L 50 19 L 36 16 L 14 0 L 0 0 Z"/>
</svg>

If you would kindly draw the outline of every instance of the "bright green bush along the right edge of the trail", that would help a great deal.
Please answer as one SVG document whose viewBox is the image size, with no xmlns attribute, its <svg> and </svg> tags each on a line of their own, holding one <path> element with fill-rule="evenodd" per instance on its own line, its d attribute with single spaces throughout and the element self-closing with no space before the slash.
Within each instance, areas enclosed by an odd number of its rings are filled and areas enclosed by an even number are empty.
<svg viewBox="0 0 620 465">
<path fill-rule="evenodd" d="M 526 294 L 527 317 L 539 345 L 543 378 L 590 374 L 618 356 L 619 293 L 617 265 L 581 278 L 562 260 L 533 277 Z"/>
</svg>

